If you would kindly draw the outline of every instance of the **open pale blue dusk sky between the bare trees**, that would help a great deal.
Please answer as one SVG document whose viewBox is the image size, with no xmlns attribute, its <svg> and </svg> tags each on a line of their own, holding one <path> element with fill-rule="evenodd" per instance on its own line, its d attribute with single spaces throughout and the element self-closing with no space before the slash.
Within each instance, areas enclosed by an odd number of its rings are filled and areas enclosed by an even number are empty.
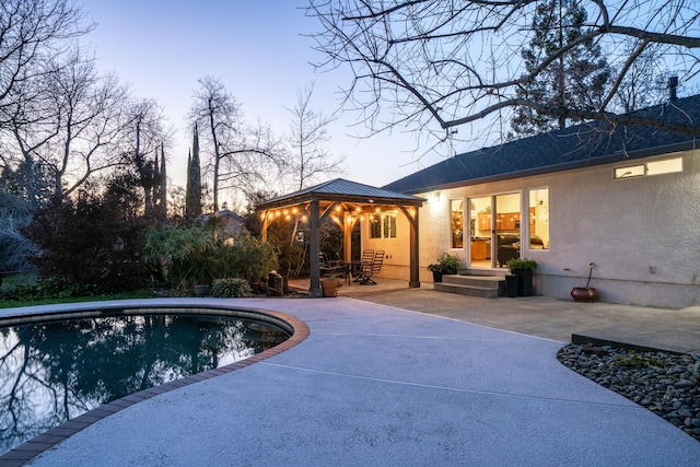
<svg viewBox="0 0 700 467">
<path fill-rule="evenodd" d="M 167 125 L 176 131 L 168 176 L 185 184 L 187 151 L 191 143 L 185 118 L 197 80 L 219 78 L 243 106 L 247 120 L 268 122 L 280 135 L 288 131 L 299 89 L 315 81 L 313 107 L 324 114 L 337 109 L 338 87 L 350 83 L 347 70 L 317 73 L 310 62 L 323 60 L 304 34 L 316 31 L 315 19 L 294 0 L 83 0 L 95 31 L 83 38 L 94 47 L 101 71 L 115 71 L 135 95 L 152 97 L 164 106 Z M 346 156 L 348 171 L 339 176 L 382 186 L 418 168 L 411 163 L 415 136 L 401 129 L 371 139 L 349 127 L 343 115 L 330 128 L 329 149 Z M 421 165 L 447 155 L 431 154 Z M 202 161 L 203 162 L 203 161 Z"/>
</svg>

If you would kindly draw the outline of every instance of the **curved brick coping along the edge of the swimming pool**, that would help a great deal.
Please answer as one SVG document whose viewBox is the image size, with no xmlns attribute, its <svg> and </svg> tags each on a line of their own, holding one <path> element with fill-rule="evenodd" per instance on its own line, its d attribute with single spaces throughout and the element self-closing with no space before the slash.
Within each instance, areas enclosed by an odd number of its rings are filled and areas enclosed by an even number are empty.
<svg viewBox="0 0 700 467">
<path fill-rule="evenodd" d="M 95 302 L 95 307 L 100 307 L 100 303 Z M 22 315 L 11 315 L 0 317 L 0 326 L 16 326 L 28 323 L 38 323 L 51 319 L 66 319 L 66 318 L 85 318 L 85 317 L 100 317 L 100 316 L 114 316 L 119 314 L 126 315 L 143 315 L 143 314 L 188 314 L 188 315 L 214 315 L 214 316 L 230 316 L 241 318 L 254 318 L 264 320 L 283 328 L 290 334 L 290 338 L 284 342 L 267 349 L 260 353 L 248 357 L 247 359 L 240 360 L 229 365 L 220 366 L 218 369 L 209 370 L 202 373 L 197 373 L 184 378 L 163 383 L 158 386 L 150 387 L 148 389 L 139 390 L 138 393 L 130 394 L 121 397 L 120 399 L 113 400 L 104 404 L 92 410 L 82 413 L 74 419 L 70 419 L 58 427 L 55 427 L 23 444 L 8 451 L 0 455 L 0 466 L 22 466 L 30 462 L 34 457 L 38 456 L 43 452 L 50 450 L 55 445 L 61 443 L 66 439 L 73 434 L 84 430 L 85 428 L 96 423 L 113 413 L 124 410 L 133 406 L 142 400 L 150 399 L 154 396 L 168 393 L 180 387 L 189 386 L 190 384 L 199 383 L 201 381 L 211 380 L 217 376 L 221 376 L 226 373 L 234 372 L 236 370 L 244 369 L 254 363 L 261 362 L 279 353 L 282 353 L 306 339 L 310 335 L 308 326 L 304 322 L 294 316 L 275 312 L 271 310 L 247 307 L 247 306 L 226 306 L 214 304 L 197 304 L 197 305 L 182 305 L 174 304 L 168 305 L 135 305 L 129 306 L 109 306 L 100 311 L 95 310 L 61 310 L 61 311 L 48 311 L 37 313 L 26 313 Z"/>
</svg>

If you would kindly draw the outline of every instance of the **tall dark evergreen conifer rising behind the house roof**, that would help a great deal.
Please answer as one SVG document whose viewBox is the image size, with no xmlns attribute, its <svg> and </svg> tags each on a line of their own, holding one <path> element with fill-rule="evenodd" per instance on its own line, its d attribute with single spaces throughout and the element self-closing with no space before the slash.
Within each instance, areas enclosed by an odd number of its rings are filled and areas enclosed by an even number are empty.
<svg viewBox="0 0 700 467">
<path fill-rule="evenodd" d="M 541 66 L 542 60 L 562 47 L 580 40 L 588 30 L 584 27 L 587 14 L 575 0 L 549 0 L 540 3 L 533 19 L 535 36 L 529 47 L 522 50 L 527 72 Z M 549 63 L 542 73 L 517 90 L 517 97 L 540 102 L 561 109 L 599 110 L 610 69 L 593 40 L 571 47 Z M 565 128 L 581 122 L 565 115 L 538 114 L 530 107 L 516 107 L 509 139 Z"/>
</svg>

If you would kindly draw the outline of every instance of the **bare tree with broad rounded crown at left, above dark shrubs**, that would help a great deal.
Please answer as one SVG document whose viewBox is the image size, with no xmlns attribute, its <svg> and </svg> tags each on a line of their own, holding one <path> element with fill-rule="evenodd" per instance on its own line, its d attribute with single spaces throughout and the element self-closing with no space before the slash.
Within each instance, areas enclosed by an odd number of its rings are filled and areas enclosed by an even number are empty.
<svg viewBox="0 0 700 467">
<path fill-rule="evenodd" d="M 45 72 L 23 83 L 22 95 L 28 97 L 14 106 L 8 126 L 22 161 L 54 179 L 55 197 L 126 163 L 119 144 L 133 119 L 128 89 L 115 74 L 98 74 L 92 58 L 74 49 L 50 60 Z"/>
</svg>

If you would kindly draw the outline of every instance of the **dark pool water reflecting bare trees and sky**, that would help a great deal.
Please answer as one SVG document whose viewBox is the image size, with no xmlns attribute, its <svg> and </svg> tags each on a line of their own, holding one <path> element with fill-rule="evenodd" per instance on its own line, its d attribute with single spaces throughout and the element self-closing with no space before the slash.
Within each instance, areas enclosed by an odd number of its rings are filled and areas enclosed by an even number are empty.
<svg viewBox="0 0 700 467">
<path fill-rule="evenodd" d="M 0 327 L 0 455 L 108 401 L 246 359 L 289 335 L 208 315 Z"/>
</svg>

